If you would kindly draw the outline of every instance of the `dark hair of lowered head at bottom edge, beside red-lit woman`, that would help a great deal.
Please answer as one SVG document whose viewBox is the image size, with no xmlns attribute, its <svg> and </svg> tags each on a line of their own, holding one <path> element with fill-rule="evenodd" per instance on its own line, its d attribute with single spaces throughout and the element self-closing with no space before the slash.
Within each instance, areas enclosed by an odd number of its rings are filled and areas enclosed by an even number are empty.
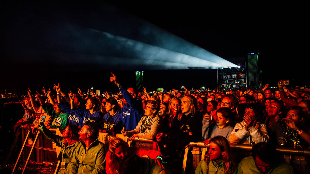
<svg viewBox="0 0 310 174">
<path fill-rule="evenodd" d="M 119 165 L 119 174 L 136 174 L 143 170 L 143 160 L 136 154 L 127 155 Z"/>
</svg>

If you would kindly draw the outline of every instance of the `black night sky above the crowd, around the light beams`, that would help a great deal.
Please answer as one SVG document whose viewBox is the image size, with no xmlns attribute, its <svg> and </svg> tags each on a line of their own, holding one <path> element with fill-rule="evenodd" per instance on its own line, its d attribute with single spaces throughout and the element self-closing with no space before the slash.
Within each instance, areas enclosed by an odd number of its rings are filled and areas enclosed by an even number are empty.
<svg viewBox="0 0 310 174">
<path fill-rule="evenodd" d="M 151 43 L 151 38 L 156 36 L 142 37 L 137 32 L 143 30 L 136 29 L 143 26 L 141 21 L 224 59 L 259 52 L 263 84 L 275 86 L 277 80 L 284 79 L 290 80 L 292 85 L 309 85 L 308 12 L 302 4 L 224 6 L 95 1 L 48 5 L 6 2 L 3 7 L 6 7 L 2 13 L 6 29 L 2 30 L 2 38 L 5 39 L 0 93 L 7 89 L 7 92 L 25 94 L 27 88 L 33 91 L 40 90 L 42 85 L 52 88 L 54 83 L 60 83 L 64 90 L 73 92 L 78 87 L 84 91 L 90 87 L 117 91 L 109 82 L 109 72 L 114 72 L 124 86 L 132 86 L 135 84 L 135 70 L 144 70 L 144 85 L 149 90 L 161 87 L 178 89 L 182 85 L 187 88 L 216 86 L 216 70 L 212 69 L 135 69 L 130 64 L 117 66 L 108 58 L 101 62 L 88 61 L 89 57 L 115 54 L 107 53 L 108 47 L 96 49 L 98 44 L 95 43 L 100 41 L 100 35 L 90 34 L 89 28 Z M 128 30 L 128 26 L 136 30 Z M 75 42 L 76 38 L 79 42 Z M 117 56 L 125 54 L 120 51 Z"/>
</svg>

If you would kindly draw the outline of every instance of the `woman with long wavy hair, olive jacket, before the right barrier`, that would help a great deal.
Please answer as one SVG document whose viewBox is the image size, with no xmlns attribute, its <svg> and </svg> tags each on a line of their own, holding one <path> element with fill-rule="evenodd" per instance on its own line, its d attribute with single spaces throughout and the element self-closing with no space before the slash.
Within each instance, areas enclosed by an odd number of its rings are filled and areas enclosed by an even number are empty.
<svg viewBox="0 0 310 174">
<path fill-rule="evenodd" d="M 231 148 L 225 137 L 211 138 L 209 148 L 208 154 L 199 162 L 195 174 L 229 174 L 237 172 Z"/>
</svg>

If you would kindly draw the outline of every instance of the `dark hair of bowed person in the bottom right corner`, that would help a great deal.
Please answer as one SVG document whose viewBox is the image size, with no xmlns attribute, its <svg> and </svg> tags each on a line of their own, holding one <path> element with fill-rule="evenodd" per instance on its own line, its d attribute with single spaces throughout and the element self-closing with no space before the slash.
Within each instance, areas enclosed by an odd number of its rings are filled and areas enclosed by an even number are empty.
<svg viewBox="0 0 310 174">
<path fill-rule="evenodd" d="M 260 142 L 252 147 L 252 157 L 258 157 L 265 163 L 272 164 L 276 159 L 276 146 L 271 143 Z"/>
</svg>

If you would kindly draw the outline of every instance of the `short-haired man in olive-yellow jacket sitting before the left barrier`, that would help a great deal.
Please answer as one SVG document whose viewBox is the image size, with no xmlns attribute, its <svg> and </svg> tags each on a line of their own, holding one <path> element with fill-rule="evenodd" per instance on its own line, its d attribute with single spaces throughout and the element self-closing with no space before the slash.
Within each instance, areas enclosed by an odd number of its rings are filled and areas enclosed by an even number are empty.
<svg viewBox="0 0 310 174">
<path fill-rule="evenodd" d="M 98 140 L 99 129 L 87 121 L 78 134 L 81 143 L 73 153 L 68 166 L 69 173 L 104 173 L 107 149 Z"/>
</svg>

